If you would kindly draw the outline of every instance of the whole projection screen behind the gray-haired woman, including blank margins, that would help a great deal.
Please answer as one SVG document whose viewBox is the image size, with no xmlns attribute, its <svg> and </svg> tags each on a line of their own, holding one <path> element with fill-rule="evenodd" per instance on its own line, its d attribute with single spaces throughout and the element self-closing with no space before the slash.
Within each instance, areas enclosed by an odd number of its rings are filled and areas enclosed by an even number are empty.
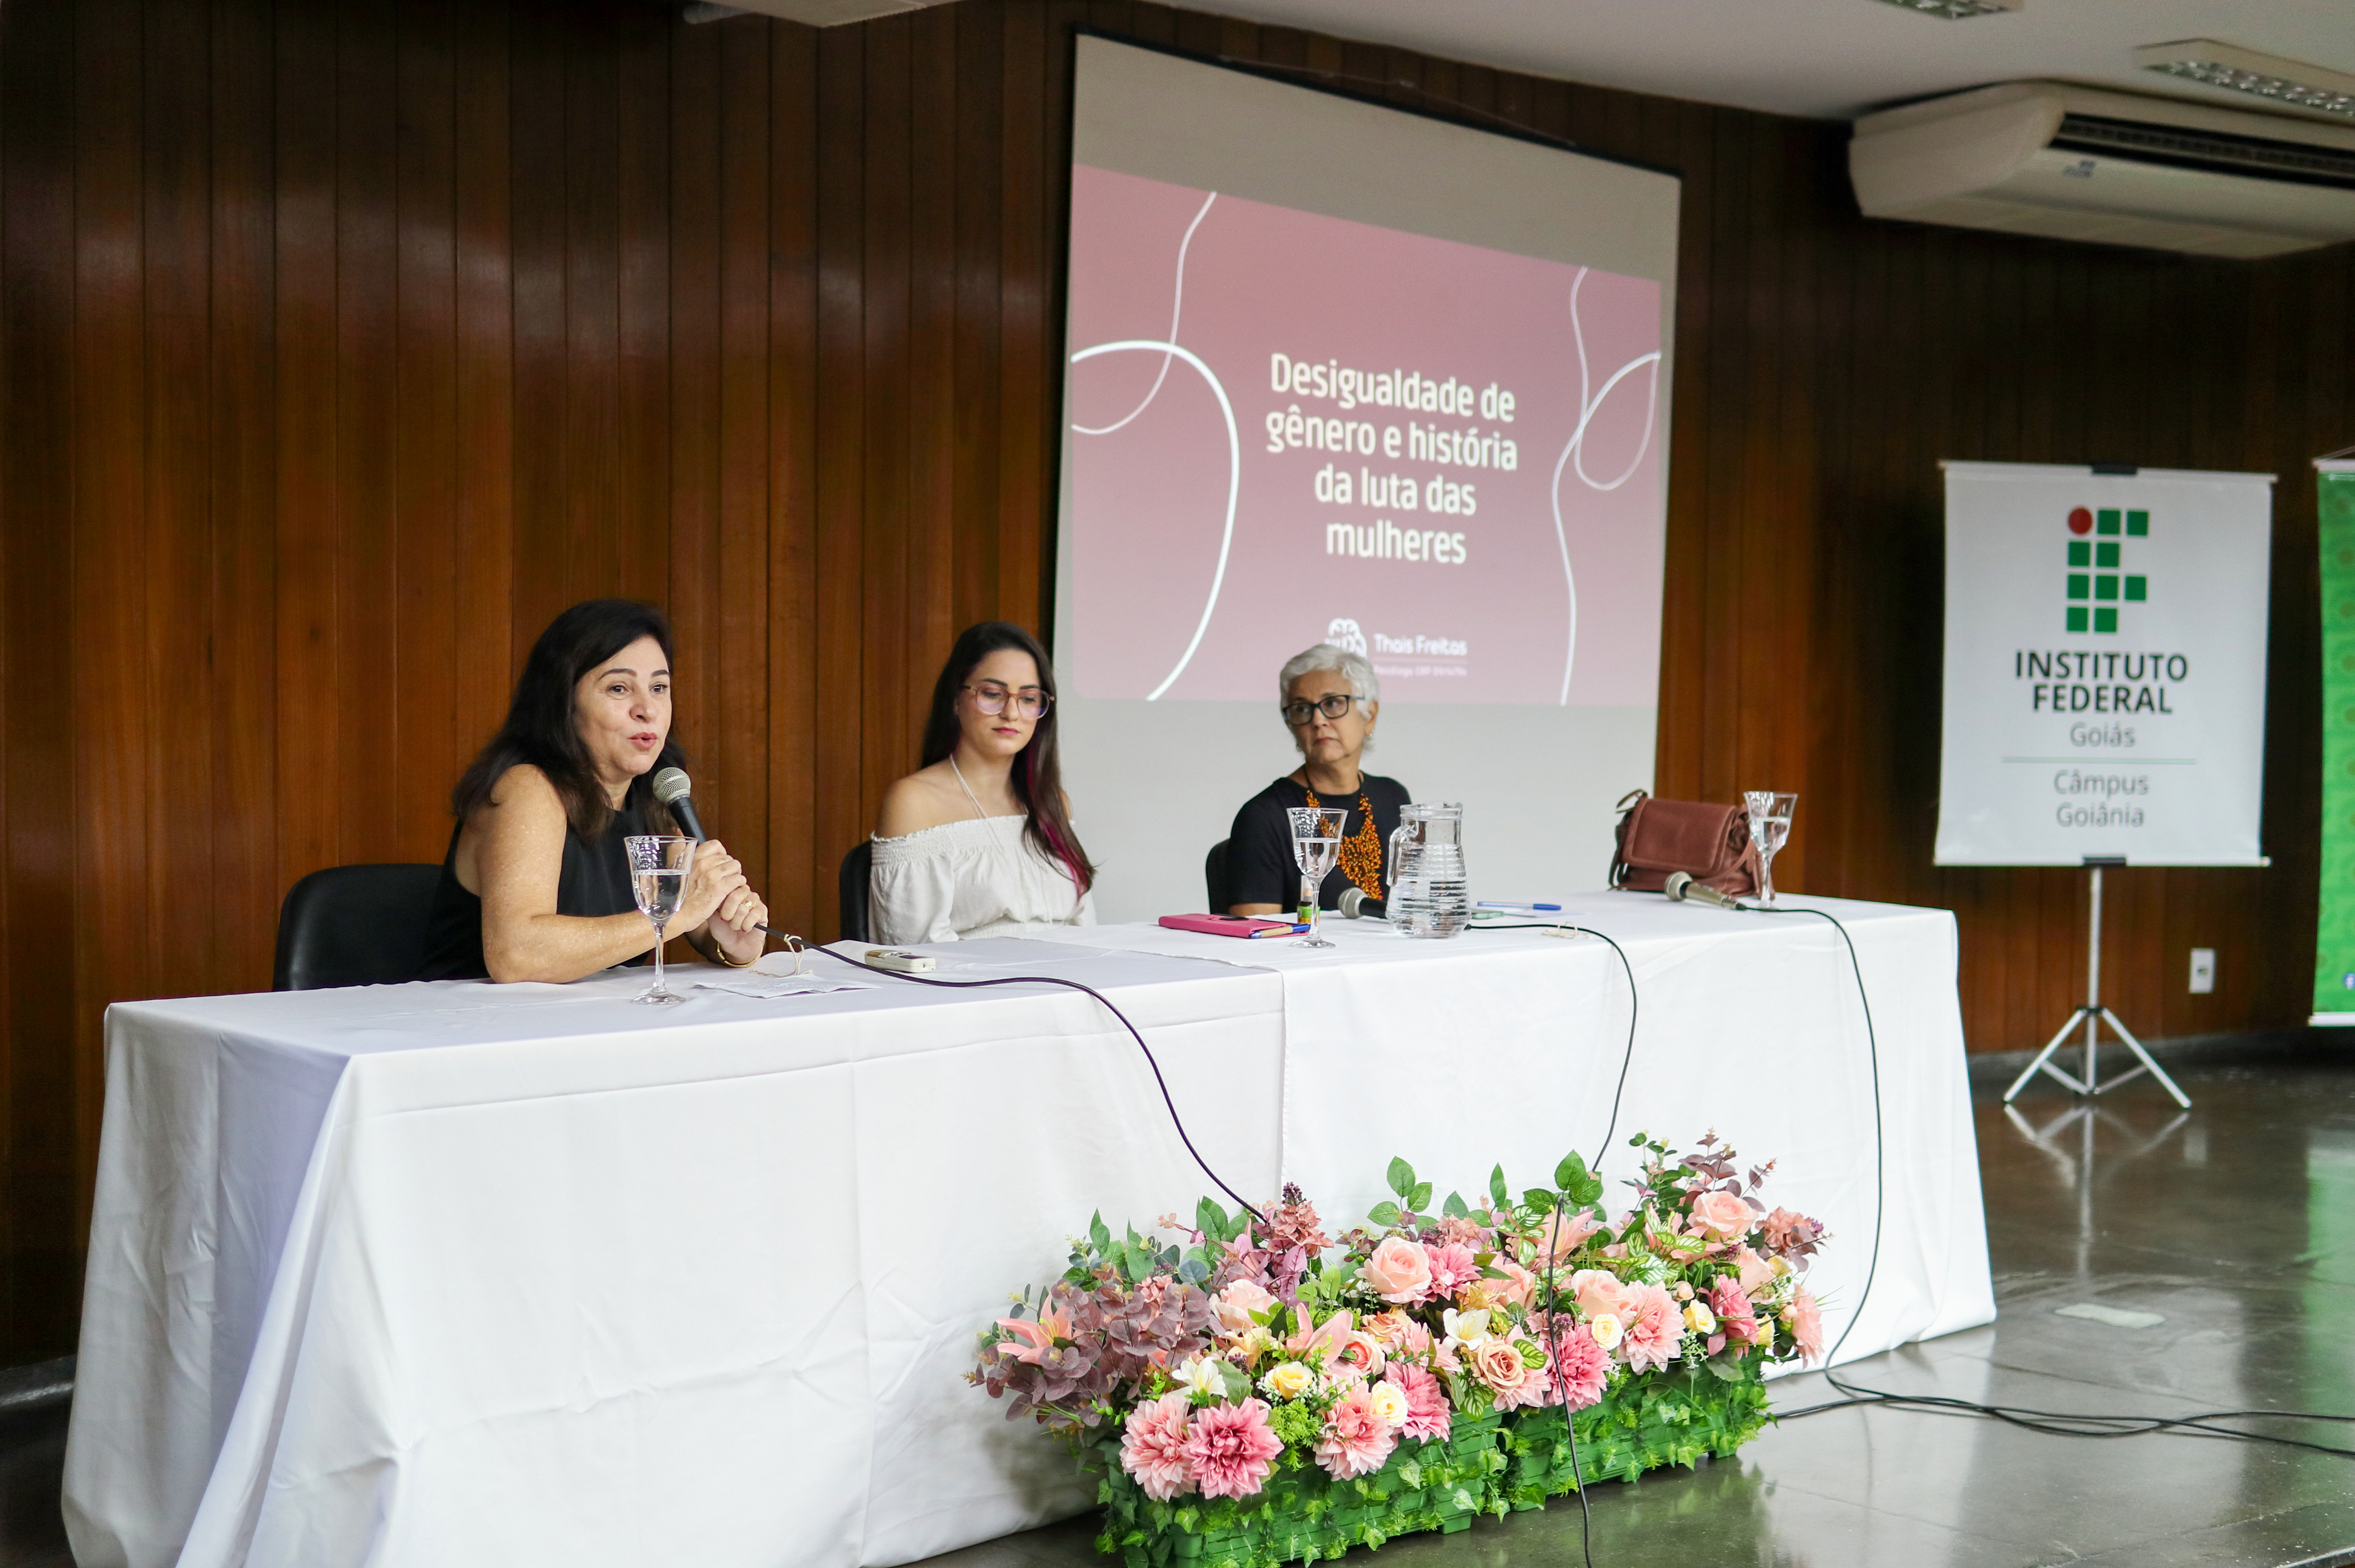
<svg viewBox="0 0 2355 1568">
<path fill-rule="evenodd" d="M 1203 906 L 1324 640 L 1380 676 L 1366 770 L 1465 803 L 1474 897 L 1604 883 L 1653 765 L 1677 195 L 1079 40 L 1053 650 L 1100 918 Z"/>
</svg>

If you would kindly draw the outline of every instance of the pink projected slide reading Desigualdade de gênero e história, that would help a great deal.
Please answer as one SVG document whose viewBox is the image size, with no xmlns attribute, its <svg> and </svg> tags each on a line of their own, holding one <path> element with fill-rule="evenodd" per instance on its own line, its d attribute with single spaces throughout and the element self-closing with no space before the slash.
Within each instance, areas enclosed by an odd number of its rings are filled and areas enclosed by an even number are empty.
<svg viewBox="0 0 2355 1568">
<path fill-rule="evenodd" d="M 1651 706 L 1660 285 L 1072 170 L 1067 690 Z"/>
</svg>

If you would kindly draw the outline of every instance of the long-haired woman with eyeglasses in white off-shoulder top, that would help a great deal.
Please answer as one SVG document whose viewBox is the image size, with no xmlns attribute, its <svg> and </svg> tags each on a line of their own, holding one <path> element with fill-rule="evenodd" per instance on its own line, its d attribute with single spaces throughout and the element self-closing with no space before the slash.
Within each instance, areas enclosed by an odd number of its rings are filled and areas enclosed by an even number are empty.
<svg viewBox="0 0 2355 1568">
<path fill-rule="evenodd" d="M 923 768 L 883 791 L 869 937 L 893 946 L 1095 925 L 1095 866 L 1055 756 L 1055 671 L 1013 622 L 968 626 L 933 683 Z"/>
</svg>

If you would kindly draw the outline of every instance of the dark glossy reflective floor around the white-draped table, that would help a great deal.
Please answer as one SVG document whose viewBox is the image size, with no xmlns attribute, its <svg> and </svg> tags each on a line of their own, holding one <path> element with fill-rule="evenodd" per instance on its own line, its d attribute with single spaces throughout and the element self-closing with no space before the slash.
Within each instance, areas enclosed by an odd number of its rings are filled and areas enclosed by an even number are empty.
<svg viewBox="0 0 2355 1568">
<path fill-rule="evenodd" d="M 2355 1413 L 2355 1052 L 2183 1071 L 2079 1111 L 1978 1097 L 1997 1323 L 1858 1361 L 1844 1380 L 2046 1410 Z M 2061 1316 L 2094 1304 L 2141 1326 Z M 1776 1384 L 1785 1410 L 1835 1398 Z M 2277 1424 L 2355 1448 L 2355 1427 Z M 0 1568 L 66 1568 L 64 1413 L 0 1417 Z M 1594 1488 L 1597 1568 L 2355 1566 L 2355 1460 L 2195 1436 L 2056 1439 L 1985 1420 L 1837 1410 L 1736 1462 Z M 1578 1566 L 1578 1507 L 1401 1537 L 1380 1568 Z M 930 1568 L 1102 1563 L 1086 1519 Z M 1356 1561 L 1356 1559 L 1352 1559 Z"/>
</svg>

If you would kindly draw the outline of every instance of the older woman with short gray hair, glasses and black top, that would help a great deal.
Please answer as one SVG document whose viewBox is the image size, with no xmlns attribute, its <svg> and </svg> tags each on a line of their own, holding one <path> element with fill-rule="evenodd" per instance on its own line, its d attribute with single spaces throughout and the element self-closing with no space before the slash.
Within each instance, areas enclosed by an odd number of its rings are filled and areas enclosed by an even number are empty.
<svg viewBox="0 0 2355 1568">
<path fill-rule="evenodd" d="M 1340 864 L 1319 890 L 1321 909 L 1338 909 L 1342 890 L 1356 885 L 1366 897 L 1382 897 L 1382 855 L 1399 808 L 1408 803 L 1406 786 L 1359 768 L 1382 716 L 1382 683 L 1364 655 L 1319 643 L 1283 664 L 1276 676 L 1276 702 L 1283 725 L 1300 749 L 1300 768 L 1276 779 L 1234 812 L 1227 850 L 1227 913 L 1267 916 L 1291 909 L 1300 897 L 1300 869 L 1293 862 L 1295 805 L 1340 805 Z"/>
</svg>

